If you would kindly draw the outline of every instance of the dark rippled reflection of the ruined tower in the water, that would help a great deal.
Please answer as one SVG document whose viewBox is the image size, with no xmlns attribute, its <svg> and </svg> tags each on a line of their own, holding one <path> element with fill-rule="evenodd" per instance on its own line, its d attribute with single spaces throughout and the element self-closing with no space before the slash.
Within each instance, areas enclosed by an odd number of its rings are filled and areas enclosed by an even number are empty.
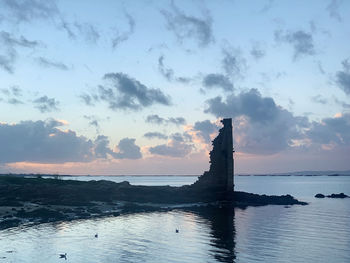
<svg viewBox="0 0 350 263">
<path fill-rule="evenodd" d="M 210 226 L 211 254 L 218 262 L 234 262 L 235 255 L 235 211 L 232 205 L 206 206 L 189 209 L 191 213 L 205 219 Z"/>
</svg>

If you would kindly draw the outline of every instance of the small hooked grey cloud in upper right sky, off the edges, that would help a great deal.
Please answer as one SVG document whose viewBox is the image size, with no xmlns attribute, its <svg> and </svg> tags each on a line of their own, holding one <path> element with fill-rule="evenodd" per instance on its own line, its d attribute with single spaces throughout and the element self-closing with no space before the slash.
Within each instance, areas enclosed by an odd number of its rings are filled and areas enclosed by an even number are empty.
<svg viewBox="0 0 350 263">
<path fill-rule="evenodd" d="M 312 34 L 302 30 L 294 32 L 277 30 L 275 31 L 275 40 L 293 46 L 294 60 L 303 56 L 312 56 L 316 53 Z"/>
</svg>

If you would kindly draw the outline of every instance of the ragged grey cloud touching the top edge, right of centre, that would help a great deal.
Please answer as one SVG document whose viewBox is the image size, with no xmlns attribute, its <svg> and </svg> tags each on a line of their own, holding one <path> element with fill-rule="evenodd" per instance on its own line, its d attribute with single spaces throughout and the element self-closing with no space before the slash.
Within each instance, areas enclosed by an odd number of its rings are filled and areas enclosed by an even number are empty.
<svg viewBox="0 0 350 263">
<path fill-rule="evenodd" d="M 172 1 L 171 10 L 162 10 L 161 13 L 166 20 L 167 29 L 172 31 L 181 43 L 187 38 L 196 40 L 200 47 L 214 42 L 212 18 L 208 11 L 202 18 L 186 15 Z"/>
</svg>

